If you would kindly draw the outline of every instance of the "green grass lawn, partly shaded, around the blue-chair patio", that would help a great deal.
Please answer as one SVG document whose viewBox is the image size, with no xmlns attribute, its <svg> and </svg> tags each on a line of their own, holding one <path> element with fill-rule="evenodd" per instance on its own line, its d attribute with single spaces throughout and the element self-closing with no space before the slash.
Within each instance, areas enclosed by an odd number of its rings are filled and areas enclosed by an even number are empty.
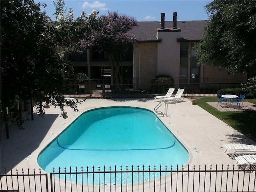
<svg viewBox="0 0 256 192">
<path fill-rule="evenodd" d="M 218 101 L 216 97 L 205 97 L 194 100 L 198 106 L 216 116 L 226 124 L 232 126 L 242 134 L 256 141 L 256 111 L 248 112 L 221 112 L 206 102 Z M 256 104 L 256 99 L 245 99 L 244 101 Z"/>
</svg>

